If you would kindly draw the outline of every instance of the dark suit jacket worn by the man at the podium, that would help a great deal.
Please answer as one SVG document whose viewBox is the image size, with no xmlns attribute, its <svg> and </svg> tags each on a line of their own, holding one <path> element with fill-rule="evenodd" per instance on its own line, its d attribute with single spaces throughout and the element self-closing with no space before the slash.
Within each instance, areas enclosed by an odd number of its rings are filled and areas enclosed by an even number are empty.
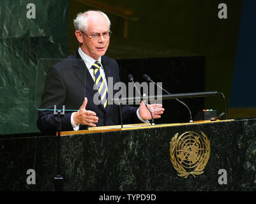
<svg viewBox="0 0 256 204">
<path fill-rule="evenodd" d="M 114 59 L 102 56 L 102 66 L 107 80 L 108 77 L 112 77 L 113 84 L 120 82 L 119 68 Z M 98 117 L 96 126 L 121 124 L 118 105 L 107 105 L 105 110 L 102 105 L 94 104 L 93 96 L 98 91 L 93 90 L 93 85 L 93 78 L 77 51 L 75 54 L 70 55 L 67 59 L 50 68 L 45 81 L 40 109 L 53 109 L 54 105 L 57 106 L 57 109 L 62 109 L 62 106 L 65 105 L 65 110 L 73 110 L 66 111 L 64 117 L 61 117 L 61 130 L 73 130 L 71 124 L 72 112 L 79 110 L 84 102 L 84 98 L 87 97 L 88 102 L 86 110 L 91 110 L 96 113 Z M 117 91 L 118 90 L 113 91 L 112 96 L 114 96 Z M 108 101 L 110 97 L 109 94 Z M 140 122 L 136 114 L 137 109 L 136 107 L 128 105 L 121 106 L 124 124 Z M 38 112 L 37 126 L 42 132 L 56 133 L 57 117 L 54 116 L 53 111 L 40 110 Z M 80 129 L 86 128 L 87 126 L 80 126 Z"/>
</svg>

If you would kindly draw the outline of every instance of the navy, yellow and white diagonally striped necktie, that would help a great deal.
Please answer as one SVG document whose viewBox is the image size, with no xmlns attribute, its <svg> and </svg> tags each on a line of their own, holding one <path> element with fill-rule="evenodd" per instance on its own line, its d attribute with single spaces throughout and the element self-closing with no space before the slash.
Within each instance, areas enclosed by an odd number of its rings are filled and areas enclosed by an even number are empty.
<svg viewBox="0 0 256 204">
<path fill-rule="evenodd" d="M 94 82 L 98 87 L 98 92 L 100 93 L 100 98 L 102 100 L 102 104 L 104 108 L 107 106 L 107 87 L 103 81 L 102 75 L 100 75 L 100 62 L 94 62 L 92 68 L 94 69 Z"/>
</svg>

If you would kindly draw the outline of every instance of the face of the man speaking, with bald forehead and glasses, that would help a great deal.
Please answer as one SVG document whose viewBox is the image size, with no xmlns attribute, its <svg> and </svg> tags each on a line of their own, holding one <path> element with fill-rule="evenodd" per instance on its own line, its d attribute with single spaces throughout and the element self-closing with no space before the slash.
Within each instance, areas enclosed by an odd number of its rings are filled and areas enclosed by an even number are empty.
<svg viewBox="0 0 256 204">
<path fill-rule="evenodd" d="M 80 32 L 80 31 L 79 31 Z M 87 20 L 87 34 L 103 34 L 109 32 L 109 25 L 107 20 L 99 13 L 94 13 Z M 107 48 L 109 47 L 109 38 L 105 39 L 101 35 L 98 40 L 93 40 L 91 36 L 80 32 L 82 36 L 82 50 L 95 60 L 98 60 L 100 56 L 105 55 Z M 80 41 L 81 43 L 81 41 Z"/>
</svg>

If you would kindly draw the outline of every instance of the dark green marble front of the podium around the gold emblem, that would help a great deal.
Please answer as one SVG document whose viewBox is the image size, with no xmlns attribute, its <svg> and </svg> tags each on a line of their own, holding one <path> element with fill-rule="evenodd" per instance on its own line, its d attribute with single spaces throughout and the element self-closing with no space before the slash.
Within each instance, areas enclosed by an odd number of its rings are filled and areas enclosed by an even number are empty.
<svg viewBox="0 0 256 204">
<path fill-rule="evenodd" d="M 177 176 L 169 143 L 176 133 L 203 131 L 211 143 L 202 175 Z M 64 191 L 255 191 L 256 119 L 61 137 Z M 0 139 L 0 191 L 54 191 L 56 136 Z M 26 184 L 27 169 L 36 184 Z M 227 170 L 227 184 L 218 170 Z"/>
</svg>

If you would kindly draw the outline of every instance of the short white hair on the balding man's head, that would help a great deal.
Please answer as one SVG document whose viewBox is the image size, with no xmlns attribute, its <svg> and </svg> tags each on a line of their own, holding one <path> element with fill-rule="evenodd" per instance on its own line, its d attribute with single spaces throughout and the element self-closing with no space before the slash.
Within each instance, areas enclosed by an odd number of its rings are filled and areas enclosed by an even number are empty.
<svg viewBox="0 0 256 204">
<path fill-rule="evenodd" d="M 92 11 L 92 10 L 89 10 Z M 88 20 L 88 11 L 84 12 L 84 13 L 78 13 L 77 14 L 77 18 L 75 18 L 73 20 L 73 24 L 75 25 L 75 30 L 76 31 L 87 31 L 87 20 Z M 99 12 L 100 14 L 103 15 L 103 17 L 106 18 L 107 23 L 109 24 L 109 29 L 110 29 L 110 20 L 109 17 L 107 17 L 107 15 L 105 13 L 103 13 L 102 11 L 96 11 Z"/>
</svg>

